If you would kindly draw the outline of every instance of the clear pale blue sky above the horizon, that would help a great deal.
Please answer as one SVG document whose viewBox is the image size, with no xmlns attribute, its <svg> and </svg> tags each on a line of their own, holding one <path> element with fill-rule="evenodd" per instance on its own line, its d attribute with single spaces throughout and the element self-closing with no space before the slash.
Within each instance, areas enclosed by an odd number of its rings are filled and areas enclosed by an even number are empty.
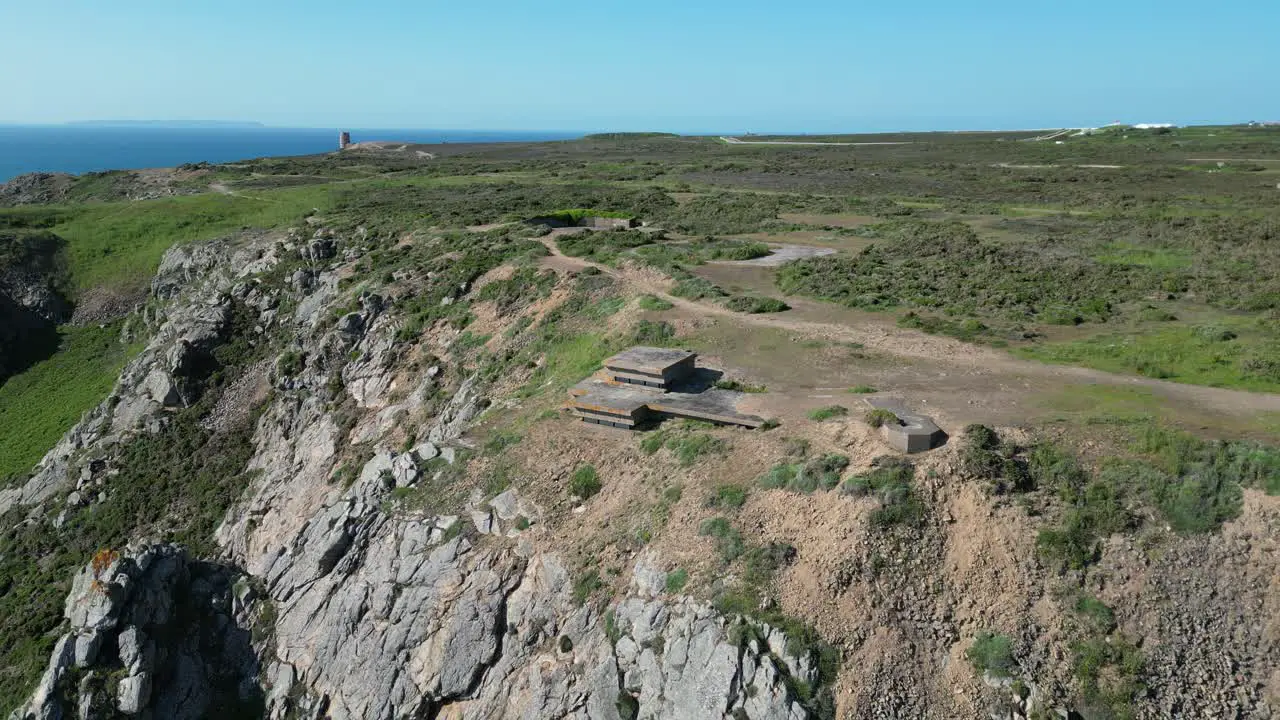
<svg viewBox="0 0 1280 720">
<path fill-rule="evenodd" d="M 0 0 L 0 123 L 837 132 L 1280 119 L 1280 0 Z"/>
</svg>

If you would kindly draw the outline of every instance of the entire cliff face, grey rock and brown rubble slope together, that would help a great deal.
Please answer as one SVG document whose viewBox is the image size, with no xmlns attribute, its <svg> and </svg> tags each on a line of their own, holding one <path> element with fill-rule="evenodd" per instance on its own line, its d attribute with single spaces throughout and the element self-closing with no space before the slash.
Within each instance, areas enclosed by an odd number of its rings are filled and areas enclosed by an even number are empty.
<svg viewBox="0 0 1280 720">
<path fill-rule="evenodd" d="M 499 343 L 532 315 L 477 306 L 466 329 L 412 324 L 408 309 L 439 319 L 484 295 L 481 281 L 515 275 L 479 240 L 435 242 L 429 261 L 402 260 L 380 287 L 365 282 L 378 251 L 358 229 L 248 236 L 165 256 L 151 302 L 131 320 L 131 333 L 150 337 L 146 350 L 24 486 L 0 491 L 0 512 L 76 523 L 84 516 L 76 512 L 106 507 L 132 443 L 193 410 L 215 437 L 250 428 L 250 479 L 225 512 L 219 506 L 201 557 L 151 539 L 172 530 L 156 524 L 88 561 L 15 717 L 1064 715 L 1073 682 L 1064 648 L 1076 639 L 1057 598 L 1080 591 L 1105 597 L 1143 643 L 1149 691 L 1138 716 L 1272 712 L 1280 511 L 1261 495 L 1221 537 L 1166 537 L 1160 552 L 1112 541 L 1102 573 L 1082 588 L 1037 562 L 1021 510 L 957 479 L 954 452 L 942 451 L 920 473 L 928 520 L 909 532 L 873 530 L 865 503 L 847 497 L 769 491 L 745 507 L 740 524 L 772 543 L 762 547 L 788 548 L 777 601 L 739 605 L 755 619 L 698 600 L 709 593 L 684 594 L 669 582 L 672 557 L 694 566 L 714 553 L 696 530 L 712 500 L 691 488 L 684 511 L 672 510 L 678 492 L 663 488 L 678 491 L 673 478 L 714 486 L 728 465 L 705 477 L 675 462 L 640 466 L 632 443 L 525 425 L 531 450 L 518 482 L 494 482 L 500 468 L 470 433 L 518 411 L 506 375 L 543 378 L 545 360 L 502 372 L 466 361 L 484 342 L 513 356 L 518 348 Z M 461 282 L 451 274 L 468 264 Z M 557 282 L 548 306 L 566 301 L 571 281 Z M 865 439 L 835 424 L 823 432 L 832 434 L 818 439 L 841 447 Z M 783 452 L 777 434 L 735 448 L 754 462 L 746 478 Z M 608 497 L 566 497 L 581 459 L 622 478 Z M 632 527 L 657 510 L 639 503 L 649 502 L 646 486 L 667 502 L 669 537 L 632 539 L 653 527 L 648 518 Z M 593 565 L 604 578 L 584 583 Z M 723 575 L 707 583 L 714 592 L 742 582 L 716 560 L 704 568 Z M 831 638 L 838 678 L 796 642 L 782 611 Z M 1024 629 L 1012 638 L 1019 666 L 975 676 L 965 650 L 997 623 Z"/>
</svg>

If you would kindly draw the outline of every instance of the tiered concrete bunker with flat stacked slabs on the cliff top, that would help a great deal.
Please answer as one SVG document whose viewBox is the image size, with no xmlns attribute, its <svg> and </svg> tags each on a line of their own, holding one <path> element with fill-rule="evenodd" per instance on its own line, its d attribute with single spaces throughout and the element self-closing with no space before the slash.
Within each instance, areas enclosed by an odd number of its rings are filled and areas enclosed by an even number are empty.
<svg viewBox="0 0 1280 720">
<path fill-rule="evenodd" d="M 737 411 L 745 395 L 713 386 L 717 370 L 698 368 L 698 355 L 632 347 L 570 389 L 570 407 L 585 423 L 636 429 L 663 418 L 758 428 L 764 419 Z"/>
</svg>

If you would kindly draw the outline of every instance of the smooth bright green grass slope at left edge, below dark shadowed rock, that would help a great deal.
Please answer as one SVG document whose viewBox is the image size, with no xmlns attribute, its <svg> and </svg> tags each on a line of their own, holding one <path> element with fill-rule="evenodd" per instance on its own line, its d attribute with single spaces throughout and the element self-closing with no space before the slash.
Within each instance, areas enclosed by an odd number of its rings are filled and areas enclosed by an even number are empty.
<svg viewBox="0 0 1280 720">
<path fill-rule="evenodd" d="M 0 482 L 40 461 L 102 401 L 141 347 L 119 343 L 119 324 L 63 328 L 59 351 L 0 386 Z"/>
</svg>

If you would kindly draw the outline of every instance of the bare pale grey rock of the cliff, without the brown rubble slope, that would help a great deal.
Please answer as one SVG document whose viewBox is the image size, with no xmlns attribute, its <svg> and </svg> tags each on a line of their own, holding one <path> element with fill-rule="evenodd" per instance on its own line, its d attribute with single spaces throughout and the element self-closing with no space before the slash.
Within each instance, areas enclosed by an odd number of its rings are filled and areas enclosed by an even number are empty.
<svg viewBox="0 0 1280 720">
<path fill-rule="evenodd" d="M 164 309 L 136 319 L 152 328 L 147 348 L 32 479 L 0 496 L 36 509 L 74 487 L 92 505 L 95 477 L 131 437 L 200 400 L 233 305 L 261 333 L 292 333 L 306 357 L 273 373 L 256 479 L 218 532 L 220 559 L 164 544 L 95 557 L 17 717 L 808 716 L 794 684 L 817 669 L 782 633 L 667 596 L 650 559 L 611 606 L 582 602 L 562 559 L 522 539 L 540 510 L 516 491 L 474 495 L 449 515 L 396 510 L 397 488 L 465 461 L 460 436 L 488 401 L 476 378 L 438 365 L 408 380 L 399 319 L 378 296 L 330 320 L 338 278 L 323 265 L 335 252 L 324 233 L 170 251 L 152 284 Z M 303 263 L 268 287 L 282 258 Z M 225 396 L 211 421 L 237 402 Z M 397 452 L 385 443 L 407 415 L 430 424 Z M 352 443 L 372 452 L 353 456 Z M 353 457 L 353 477 L 335 483 Z"/>
</svg>

